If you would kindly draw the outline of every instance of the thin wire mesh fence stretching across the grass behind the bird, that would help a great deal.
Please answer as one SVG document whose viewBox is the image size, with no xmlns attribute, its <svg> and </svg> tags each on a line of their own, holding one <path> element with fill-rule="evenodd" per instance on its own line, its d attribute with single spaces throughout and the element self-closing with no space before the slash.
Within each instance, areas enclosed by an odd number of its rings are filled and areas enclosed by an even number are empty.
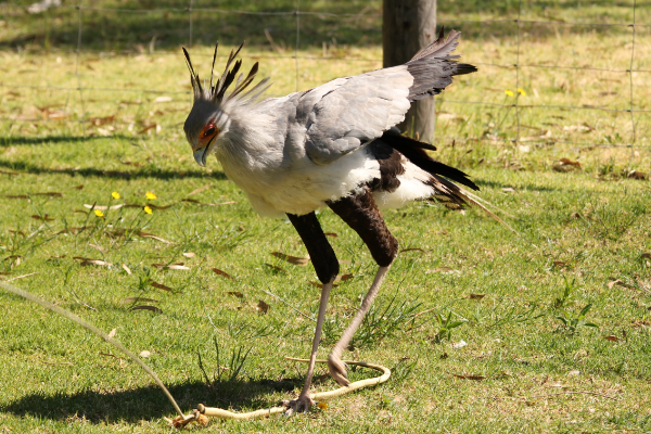
<svg viewBox="0 0 651 434">
<path fill-rule="evenodd" d="M 59 3 L 59 4 L 58 4 Z M 36 3 L 35 3 L 36 4 Z M 68 10 L 68 11 L 76 11 L 76 26 L 77 26 L 77 37 L 76 37 L 76 48 L 55 48 L 55 47 L 50 47 L 48 48 L 49 51 L 61 51 L 61 52 L 68 52 L 68 53 L 74 53 L 74 58 L 75 58 L 75 77 L 76 77 L 76 86 L 75 87 L 71 87 L 71 86 L 50 86 L 50 85 L 35 85 L 35 84 L 25 84 L 25 82 L 8 82 L 3 79 L 0 79 L 0 87 L 1 88 L 5 88 L 5 89 L 36 89 L 36 90 L 51 90 L 51 91 L 75 91 L 78 92 L 79 95 L 79 102 L 80 102 L 80 110 L 81 110 L 81 114 L 79 116 L 79 118 L 77 119 L 56 119 L 56 118 L 39 118 L 39 117 L 20 117 L 20 116 L 0 116 L 0 119 L 5 120 L 5 122 L 12 122 L 12 123 L 18 123 L 18 122 L 28 122 L 28 123 L 36 123 L 36 122 L 77 122 L 80 123 L 81 125 L 87 125 L 89 123 L 93 123 L 93 118 L 88 116 L 87 113 L 87 94 L 88 93 L 95 93 L 95 92 L 138 92 L 138 93 L 152 93 L 152 94 L 157 94 L 157 93 L 165 93 L 165 94 L 183 94 L 183 93 L 190 93 L 189 91 L 181 91 L 181 90 L 159 90 L 159 89 L 153 89 L 153 88 L 148 88 L 148 87 L 140 87 L 140 88 L 116 88 L 116 87 L 94 87 L 94 86 L 89 86 L 88 84 L 86 84 L 82 79 L 82 76 L 80 74 L 80 64 L 81 64 L 81 54 L 82 53 L 104 53 L 104 50 L 101 49 L 97 49 L 97 48 L 90 48 L 90 47 L 85 47 L 84 46 L 84 40 L 85 40 L 85 33 L 86 31 L 92 31 L 92 29 L 89 29 L 87 27 L 85 27 L 85 14 L 88 13 L 101 13 L 101 14 L 105 14 L 105 13 L 111 13 L 111 14 L 119 14 L 119 15 L 146 15 L 146 14 L 181 14 L 181 15 L 187 15 L 187 20 L 188 20 L 188 24 L 187 24 L 187 29 L 182 30 L 180 29 L 179 31 L 187 31 L 187 43 L 188 46 L 191 48 L 193 44 L 193 41 L 195 41 L 194 38 L 194 33 L 195 30 L 195 25 L 193 23 L 193 17 L 195 16 L 195 14 L 201 14 L 202 16 L 208 16 L 210 14 L 219 14 L 219 15 L 250 15 L 250 16 L 255 16 L 257 18 L 260 20 L 268 20 L 270 17 L 289 17 L 291 20 L 293 20 L 294 22 L 294 26 L 295 26 L 295 41 L 294 41 L 294 48 L 293 48 L 293 55 L 289 55 L 289 54 L 269 54 L 269 55 L 260 55 L 260 54 L 256 54 L 255 58 L 256 59 L 273 59 L 273 60 L 284 60 L 286 62 L 293 62 L 294 63 L 294 71 L 295 71 L 295 77 L 294 77 L 294 81 L 295 81 L 295 90 L 298 91 L 301 89 L 301 62 L 302 61 L 319 61 L 319 62 L 331 62 L 331 61 L 339 61 L 339 62 L 349 62 L 349 63 L 368 63 L 368 64 L 373 64 L 373 65 L 378 65 L 378 63 L 381 63 L 382 60 L 381 59 L 360 59 L 360 58 L 355 58 L 355 56 L 318 56 L 318 55 L 299 55 L 301 53 L 301 41 L 302 41 L 302 17 L 317 17 L 317 18 L 336 18 L 336 20 L 357 20 L 357 18 L 373 18 L 373 20 L 381 20 L 381 15 L 376 14 L 376 13 L 368 13 L 368 8 L 362 10 L 359 13 L 332 13 L 332 12 L 322 12 L 322 11 L 318 11 L 318 12 L 314 12 L 314 11 L 304 11 L 301 9 L 301 0 L 295 0 L 295 5 L 294 9 L 291 10 L 285 10 L 285 11 L 245 11 L 245 10 L 230 10 L 230 9 L 221 9 L 221 8 L 196 8 L 195 7 L 195 2 L 194 0 L 189 0 L 187 7 L 184 8 L 151 8 L 151 9 L 128 9 L 128 8 L 104 8 L 104 7 L 97 7 L 97 5 L 85 5 L 82 0 L 78 0 L 77 4 L 61 4 L 61 2 L 56 2 L 56 1 L 48 1 L 48 0 L 43 0 L 41 1 L 40 4 L 50 4 L 50 5 L 54 5 L 56 10 Z M 644 4 L 644 8 L 648 8 L 650 4 Z M 34 5 L 31 5 L 34 7 Z M 498 62 L 474 62 L 472 61 L 472 59 L 468 60 L 470 63 L 475 64 L 477 66 L 486 66 L 486 67 L 496 67 L 496 68 L 507 68 L 507 69 L 514 69 L 515 72 L 515 77 L 514 77 L 514 89 L 516 90 L 515 94 L 514 94 L 514 100 L 513 102 L 496 102 L 496 101 L 486 101 L 484 99 L 477 99 L 477 100 L 473 100 L 473 99 L 463 99 L 463 100 L 457 100 L 457 99 L 448 99 L 448 98 L 444 98 L 443 101 L 446 104 L 464 104 L 464 105 L 478 105 L 478 106 L 493 106 L 493 107 L 499 107 L 499 108 L 505 108 L 505 110 L 513 110 L 515 113 L 515 135 L 514 137 L 509 138 L 508 140 L 510 140 L 511 142 L 520 142 L 522 139 L 522 128 L 523 128 L 523 124 L 521 122 L 521 113 L 523 110 L 534 110 L 534 111 L 548 111 L 548 110 L 564 110 L 564 111 L 586 111 L 586 112 L 604 112 L 604 113 L 624 113 L 624 114 L 630 114 L 630 135 L 628 137 L 628 139 L 623 139 L 620 138 L 618 141 L 611 141 L 609 143 L 593 143 L 590 141 L 570 141 L 569 143 L 571 144 L 576 144 L 576 145 L 598 145 L 598 146 L 625 146 L 625 148 L 651 148 L 649 145 L 649 143 L 643 144 L 640 143 L 640 137 L 639 137 L 639 131 L 638 131 L 638 120 L 636 120 L 636 115 L 642 115 L 646 116 L 646 114 L 650 113 L 651 110 L 647 110 L 643 106 L 642 107 L 638 107 L 635 104 L 635 98 L 634 95 L 636 94 L 636 84 L 634 80 L 634 75 L 635 74 L 651 74 L 651 68 L 635 68 L 635 55 L 636 55 L 636 43 L 639 43 L 638 40 L 636 40 L 636 33 L 639 31 L 639 29 L 647 29 L 647 28 L 651 28 L 651 24 L 647 24 L 647 23 L 639 23 L 636 20 L 637 16 L 637 12 L 638 9 L 640 8 L 640 5 L 638 5 L 638 0 L 633 0 L 633 4 L 630 4 L 630 11 L 631 11 L 631 20 L 630 22 L 615 22 L 615 23 L 604 23 L 604 22 L 583 22 L 583 21 L 559 21 L 559 20 L 527 20 L 525 18 L 523 15 L 523 0 L 519 0 L 518 2 L 518 14 L 515 17 L 508 17 L 508 18 L 488 18 L 488 20 L 468 20 L 468 18 L 441 18 L 439 17 L 439 22 L 444 22 L 446 24 L 463 24 L 463 23 L 468 23 L 468 24 L 473 24 L 473 25 L 495 25 L 495 24 L 499 24 L 499 25 L 503 25 L 503 26 L 513 26 L 513 34 L 515 36 L 515 40 L 516 40 L 516 53 L 515 53 L 515 62 L 514 63 L 498 63 Z M 8 11 L 11 10 L 25 10 L 26 7 L 25 5 L 17 5 L 17 4 L 1 4 L 0 5 L 0 14 L 8 14 Z M 54 9 L 53 9 L 54 10 Z M 48 13 L 48 12 L 43 12 L 43 13 Z M 522 53 L 523 50 L 526 48 L 526 42 L 524 41 L 523 38 L 523 26 L 525 25 L 541 25 L 541 26 L 550 26 L 553 28 L 557 27 L 575 27 L 575 26 L 580 26 L 580 27 L 587 27 L 587 28 L 618 28 L 618 29 L 630 29 L 630 62 L 627 68 L 617 68 L 617 67 L 597 67 L 595 65 L 584 65 L 584 66 L 575 66 L 575 65 L 567 65 L 567 64 L 562 64 L 562 63 L 558 63 L 558 64 L 533 64 L 533 63 L 521 63 L 521 59 L 522 59 Z M 155 37 L 154 37 L 155 39 Z M 648 43 L 648 41 L 647 41 Z M 153 51 L 153 50 L 152 50 Z M 113 52 L 115 53 L 116 50 L 113 50 Z M 132 50 L 117 50 L 117 53 L 119 54 L 120 52 L 123 53 L 131 53 Z M 164 55 L 169 55 L 169 54 L 174 54 L 174 55 L 178 55 L 178 53 L 175 52 L 165 52 L 165 51 L 156 51 L 156 55 L 159 56 L 164 56 Z M 208 56 L 212 54 L 201 54 L 201 53 L 194 53 L 193 56 L 196 55 L 204 55 L 204 56 Z M 628 78 L 628 98 L 626 99 L 627 101 L 627 106 L 626 107 L 622 107 L 620 104 L 618 107 L 615 106 L 603 106 L 603 105 L 587 105 L 587 104 L 583 104 L 583 105 L 572 105 L 572 104 L 532 104 L 532 103 L 521 103 L 521 99 L 520 95 L 518 94 L 518 91 L 520 91 L 521 87 L 522 87 L 522 79 L 523 79 L 523 72 L 526 69 L 536 69 L 536 68 L 540 68 L 540 69 L 554 69 L 554 71 L 574 71 L 576 73 L 578 72 L 595 72 L 595 73 L 609 73 L 609 74 L 617 74 L 621 76 L 620 81 L 623 82 L 623 80 L 625 80 L 625 77 Z M 651 75 L 649 75 L 649 78 L 651 79 Z M 648 80 L 646 80 L 648 81 Z M 623 95 L 620 95 L 620 100 L 622 100 Z M 646 104 L 644 104 L 646 105 Z M 115 124 L 120 124 L 120 120 L 117 118 L 111 119 L 111 123 L 115 123 Z M 123 124 L 125 124 L 123 122 Z M 128 124 L 128 123 L 126 123 Z M 178 123 L 174 125 L 175 128 L 178 126 Z M 165 127 L 165 126 L 161 126 L 161 127 Z M 86 127 L 85 127 L 85 131 L 86 131 Z M 482 136 L 477 136 L 477 137 L 446 137 L 446 136 L 437 136 L 437 139 L 454 139 L 454 140 L 460 140 L 460 141 L 495 141 L 496 138 L 494 137 L 482 137 Z M 528 140 L 529 142 L 533 143 L 537 143 L 537 142 L 546 142 L 545 140 L 540 140 L 540 141 L 536 141 L 536 140 Z M 563 142 L 563 140 L 554 140 L 556 142 Z"/>
</svg>

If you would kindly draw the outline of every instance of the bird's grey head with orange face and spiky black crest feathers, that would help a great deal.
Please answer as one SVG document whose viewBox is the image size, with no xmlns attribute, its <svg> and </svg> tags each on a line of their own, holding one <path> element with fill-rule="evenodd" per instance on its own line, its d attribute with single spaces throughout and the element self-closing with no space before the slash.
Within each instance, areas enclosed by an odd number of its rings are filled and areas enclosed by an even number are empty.
<svg viewBox="0 0 651 434">
<path fill-rule="evenodd" d="M 190 62 L 190 54 L 183 48 L 188 68 L 190 69 L 190 82 L 194 93 L 194 103 L 192 110 L 186 119 L 183 130 L 186 138 L 194 159 L 200 166 L 206 165 L 206 158 L 214 153 L 220 143 L 228 140 L 229 127 L 231 117 L 229 113 L 239 105 L 246 105 L 255 102 L 260 94 L 268 89 L 268 78 L 260 80 L 257 85 L 247 89 L 248 85 L 255 79 L 258 71 L 257 62 L 251 68 L 251 72 L 244 78 L 244 74 L 238 76 L 238 72 L 242 66 L 242 61 L 239 60 L 233 64 L 233 61 L 240 50 L 241 44 L 235 51 L 231 51 L 224 74 L 215 82 L 215 60 L 217 59 L 217 46 L 215 47 L 215 55 L 213 56 L 213 69 L 210 72 L 209 87 L 204 89 L 199 75 Z M 230 68 L 232 65 L 232 68 Z M 230 68 L 230 69 L 229 69 Z M 235 80 L 237 77 L 237 80 Z M 232 91 L 226 94 L 228 88 L 234 82 Z"/>
</svg>

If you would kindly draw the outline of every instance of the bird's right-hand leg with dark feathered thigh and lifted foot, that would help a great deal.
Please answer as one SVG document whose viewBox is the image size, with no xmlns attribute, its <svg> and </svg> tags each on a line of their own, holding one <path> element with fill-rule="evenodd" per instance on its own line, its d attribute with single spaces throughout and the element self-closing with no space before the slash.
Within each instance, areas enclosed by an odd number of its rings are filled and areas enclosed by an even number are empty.
<svg viewBox="0 0 651 434">
<path fill-rule="evenodd" d="M 391 234 L 388 228 L 386 228 L 382 213 L 380 213 L 373 200 L 373 193 L 368 188 L 365 188 L 361 193 L 342 197 L 336 202 L 329 202 L 328 206 L 361 237 L 369 247 L 373 259 L 380 266 L 373 284 L 363 297 L 359 310 L 328 357 L 330 374 L 341 385 L 347 385 L 349 382 L 346 378 L 346 367 L 342 361 L 342 353 L 350 344 L 353 335 L 371 308 L 371 304 L 380 291 L 384 277 L 398 253 L 398 241 Z"/>
</svg>

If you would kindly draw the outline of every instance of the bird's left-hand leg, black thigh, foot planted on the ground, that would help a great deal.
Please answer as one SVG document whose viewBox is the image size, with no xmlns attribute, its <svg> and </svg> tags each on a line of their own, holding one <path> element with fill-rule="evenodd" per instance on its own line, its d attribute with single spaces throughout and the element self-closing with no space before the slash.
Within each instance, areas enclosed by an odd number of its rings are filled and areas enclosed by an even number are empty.
<svg viewBox="0 0 651 434">
<path fill-rule="evenodd" d="M 283 401 L 289 407 L 288 414 L 293 411 L 307 411 L 314 404 L 309 397 L 309 388 L 311 386 L 311 379 L 315 373 L 315 363 L 317 360 L 317 350 L 319 349 L 319 342 L 321 341 L 321 329 L 323 328 L 323 318 L 326 317 L 326 307 L 328 306 L 328 297 L 330 296 L 330 290 L 334 278 L 339 275 L 339 261 L 334 255 L 332 246 L 328 242 L 321 225 L 315 213 L 307 214 L 305 216 L 295 216 L 288 214 L 290 221 L 296 228 L 298 235 L 303 240 L 303 243 L 307 247 L 307 252 L 311 258 L 311 261 L 317 271 L 319 280 L 323 283 L 321 290 L 321 301 L 319 303 L 319 316 L 317 318 L 317 329 L 315 331 L 315 340 L 312 341 L 312 349 L 309 356 L 309 365 L 307 367 L 307 374 L 305 378 L 305 385 L 298 399 L 293 401 Z"/>
</svg>

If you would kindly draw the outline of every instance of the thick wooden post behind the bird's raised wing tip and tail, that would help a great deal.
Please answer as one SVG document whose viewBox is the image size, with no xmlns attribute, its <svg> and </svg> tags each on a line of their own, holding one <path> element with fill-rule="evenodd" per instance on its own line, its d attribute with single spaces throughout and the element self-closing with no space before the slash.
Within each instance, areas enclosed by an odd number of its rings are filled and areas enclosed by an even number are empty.
<svg viewBox="0 0 651 434">
<path fill-rule="evenodd" d="M 383 0 L 382 13 L 384 67 L 408 62 L 436 40 L 436 0 Z M 413 138 L 432 142 L 434 115 L 434 98 L 416 101 L 398 128 Z"/>
</svg>

